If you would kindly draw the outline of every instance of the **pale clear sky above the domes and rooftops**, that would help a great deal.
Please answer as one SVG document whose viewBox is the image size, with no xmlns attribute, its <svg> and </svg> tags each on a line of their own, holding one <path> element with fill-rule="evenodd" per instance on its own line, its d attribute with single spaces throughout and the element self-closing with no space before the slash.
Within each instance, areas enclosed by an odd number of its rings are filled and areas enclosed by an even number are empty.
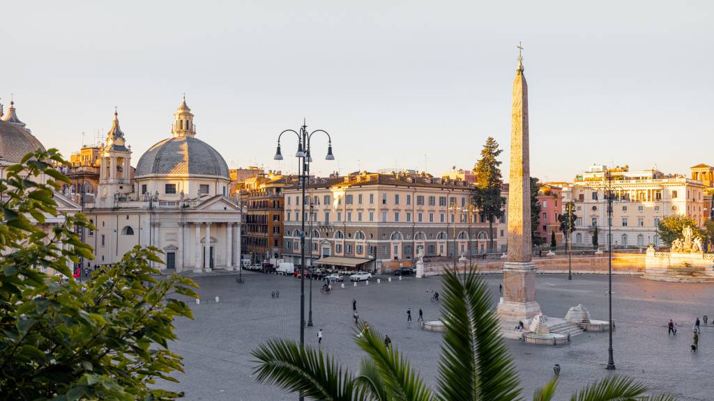
<svg viewBox="0 0 714 401">
<path fill-rule="evenodd" d="M 11 1 L 0 97 L 69 158 L 114 107 L 133 163 L 169 137 L 186 93 L 197 135 L 228 166 L 313 137 L 312 171 L 473 168 L 488 136 L 508 179 L 518 43 L 531 176 L 590 164 L 688 173 L 714 164 L 711 1 Z M 83 134 L 84 133 L 84 136 Z M 294 138 L 294 137 L 293 137 Z M 283 136 L 283 154 L 296 151 Z"/>
</svg>

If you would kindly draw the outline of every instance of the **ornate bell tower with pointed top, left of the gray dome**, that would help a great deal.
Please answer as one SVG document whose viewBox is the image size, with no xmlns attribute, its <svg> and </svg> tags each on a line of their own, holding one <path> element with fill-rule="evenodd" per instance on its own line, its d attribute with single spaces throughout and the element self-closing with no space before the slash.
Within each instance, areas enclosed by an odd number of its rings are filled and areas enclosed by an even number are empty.
<svg viewBox="0 0 714 401">
<path fill-rule="evenodd" d="M 100 153 L 100 202 L 114 200 L 115 194 L 131 193 L 131 148 L 126 146 L 124 133 L 119 128 L 119 113 L 114 110 L 114 121 L 106 133 Z"/>
</svg>

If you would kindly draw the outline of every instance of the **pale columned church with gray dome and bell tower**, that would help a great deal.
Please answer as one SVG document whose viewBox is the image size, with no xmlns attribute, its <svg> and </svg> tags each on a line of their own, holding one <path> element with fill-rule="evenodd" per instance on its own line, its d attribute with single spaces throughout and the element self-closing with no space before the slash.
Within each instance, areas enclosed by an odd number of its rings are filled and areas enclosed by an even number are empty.
<svg viewBox="0 0 714 401">
<path fill-rule="evenodd" d="M 186 99 L 174 113 L 171 137 L 151 146 L 131 178 L 131 148 L 119 118 L 101 146 L 99 186 L 84 213 L 96 230 L 85 235 L 94 264 L 116 263 L 136 245 L 154 246 L 177 273 L 233 270 L 241 260 L 240 205 L 230 198 L 228 165 L 196 136 Z"/>
</svg>

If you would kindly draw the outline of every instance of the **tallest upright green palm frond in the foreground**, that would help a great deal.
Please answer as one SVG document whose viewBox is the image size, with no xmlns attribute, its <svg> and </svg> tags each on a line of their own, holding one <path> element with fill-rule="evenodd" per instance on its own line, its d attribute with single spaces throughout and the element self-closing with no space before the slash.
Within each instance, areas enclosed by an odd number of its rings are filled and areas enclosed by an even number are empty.
<svg viewBox="0 0 714 401">
<path fill-rule="evenodd" d="M 447 270 L 442 320 L 446 326 L 439 362 L 442 400 L 516 400 L 518 375 L 499 331 L 488 289 L 473 270 L 463 283 Z"/>
</svg>

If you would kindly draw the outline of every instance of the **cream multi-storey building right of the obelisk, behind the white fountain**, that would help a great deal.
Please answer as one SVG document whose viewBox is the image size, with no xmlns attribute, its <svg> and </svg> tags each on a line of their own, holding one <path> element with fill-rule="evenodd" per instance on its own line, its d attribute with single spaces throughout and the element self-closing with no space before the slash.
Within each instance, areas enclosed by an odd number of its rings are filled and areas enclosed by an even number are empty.
<svg viewBox="0 0 714 401">
<path fill-rule="evenodd" d="M 577 222 L 573 246 L 592 246 L 595 227 L 598 245 L 608 245 L 608 213 L 605 194 L 612 178 L 612 243 L 615 247 L 643 248 L 660 243 L 657 225 L 670 215 L 685 215 L 704 223 L 704 189 L 701 181 L 663 174 L 655 169 L 630 171 L 628 166 L 590 166 L 570 187 Z"/>
</svg>

